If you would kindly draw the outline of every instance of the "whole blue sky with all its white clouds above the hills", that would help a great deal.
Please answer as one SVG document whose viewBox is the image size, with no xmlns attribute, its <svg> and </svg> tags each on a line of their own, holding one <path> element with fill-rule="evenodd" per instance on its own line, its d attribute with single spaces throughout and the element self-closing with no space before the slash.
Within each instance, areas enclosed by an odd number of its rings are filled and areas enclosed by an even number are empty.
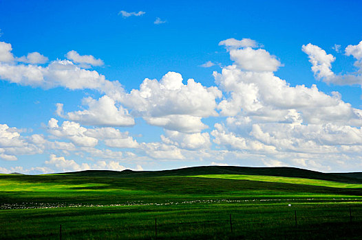
<svg viewBox="0 0 362 240">
<path fill-rule="evenodd" d="M 0 173 L 362 171 L 361 9 L 0 0 Z"/>
</svg>

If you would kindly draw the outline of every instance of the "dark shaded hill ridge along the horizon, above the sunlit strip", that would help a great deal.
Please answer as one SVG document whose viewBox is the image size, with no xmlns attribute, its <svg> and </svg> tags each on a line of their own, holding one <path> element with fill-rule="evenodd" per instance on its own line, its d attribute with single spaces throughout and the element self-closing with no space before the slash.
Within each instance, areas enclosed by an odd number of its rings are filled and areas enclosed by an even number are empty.
<svg viewBox="0 0 362 240">
<path fill-rule="evenodd" d="M 280 176 L 290 178 L 309 178 L 345 183 L 362 183 L 362 173 L 322 173 L 299 169 L 296 167 L 234 167 L 234 166 L 201 166 L 162 171 L 124 171 L 86 170 L 69 172 L 74 176 L 107 177 L 107 178 L 137 178 L 162 176 L 196 176 L 206 174 L 243 174 L 255 176 Z"/>
</svg>

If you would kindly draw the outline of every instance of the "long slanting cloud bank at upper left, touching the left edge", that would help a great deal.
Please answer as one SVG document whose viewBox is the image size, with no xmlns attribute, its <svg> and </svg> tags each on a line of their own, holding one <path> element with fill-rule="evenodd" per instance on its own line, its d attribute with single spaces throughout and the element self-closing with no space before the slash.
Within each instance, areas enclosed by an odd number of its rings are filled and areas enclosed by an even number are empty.
<svg viewBox="0 0 362 240">
<path fill-rule="evenodd" d="M 124 95 L 123 87 L 118 81 L 111 82 L 96 71 L 82 69 L 82 64 L 78 66 L 70 60 L 55 60 L 46 66 L 39 66 L 37 64 L 45 63 L 47 60 L 40 53 L 29 53 L 26 57 L 15 58 L 11 51 L 12 46 L 9 43 L 0 42 L 0 79 L 2 80 L 45 89 L 59 86 L 71 90 L 93 89 L 115 100 L 121 99 Z M 78 57 L 78 62 L 83 64 L 100 64 L 101 61 L 92 56 Z M 19 61 L 28 64 L 21 64 Z"/>
</svg>

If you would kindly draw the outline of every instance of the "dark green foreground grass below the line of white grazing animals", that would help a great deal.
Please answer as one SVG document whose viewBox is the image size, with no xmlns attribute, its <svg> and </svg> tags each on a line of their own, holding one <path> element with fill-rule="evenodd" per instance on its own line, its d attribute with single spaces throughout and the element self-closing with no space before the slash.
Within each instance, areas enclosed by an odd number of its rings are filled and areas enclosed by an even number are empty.
<svg viewBox="0 0 362 240">
<path fill-rule="evenodd" d="M 155 239 L 157 218 L 158 239 L 359 239 L 361 215 L 353 203 L 21 209 L 2 212 L 0 238 L 58 239 L 62 224 L 63 239 Z"/>
</svg>

